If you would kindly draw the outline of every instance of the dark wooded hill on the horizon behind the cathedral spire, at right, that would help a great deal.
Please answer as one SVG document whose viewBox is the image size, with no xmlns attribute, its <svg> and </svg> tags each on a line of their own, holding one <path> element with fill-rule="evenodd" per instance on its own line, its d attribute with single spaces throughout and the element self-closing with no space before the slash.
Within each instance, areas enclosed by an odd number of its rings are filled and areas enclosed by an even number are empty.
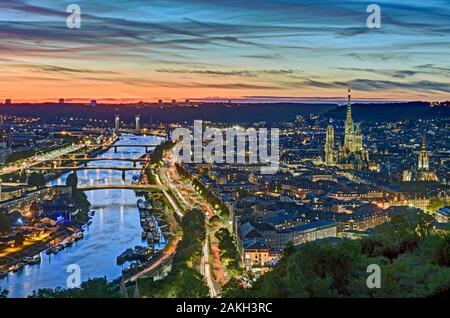
<svg viewBox="0 0 450 318">
<path fill-rule="evenodd" d="M 324 115 L 334 119 L 344 119 L 347 105 L 331 109 Z M 450 116 L 450 107 L 430 107 L 425 102 L 354 104 L 353 119 L 356 121 L 397 121 L 404 119 L 433 118 Z"/>
</svg>

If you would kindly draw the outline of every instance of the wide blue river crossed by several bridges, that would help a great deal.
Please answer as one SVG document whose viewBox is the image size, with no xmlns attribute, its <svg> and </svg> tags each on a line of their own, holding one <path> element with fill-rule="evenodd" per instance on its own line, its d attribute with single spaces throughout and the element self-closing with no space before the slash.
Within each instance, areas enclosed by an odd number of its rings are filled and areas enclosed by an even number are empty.
<svg viewBox="0 0 450 318">
<path fill-rule="evenodd" d="M 118 145 L 155 144 L 161 142 L 156 136 L 121 136 Z M 118 147 L 117 153 L 111 148 L 99 155 L 104 158 L 137 158 L 144 154 L 142 147 Z M 90 166 L 132 166 L 127 161 L 92 161 Z M 138 163 L 141 165 L 141 163 Z M 131 183 L 133 176 L 139 171 L 127 171 L 125 181 L 122 180 L 121 171 L 113 170 L 81 170 L 77 172 L 79 184 L 122 184 Z M 62 174 L 49 184 L 65 184 L 69 173 Z M 137 245 L 146 245 L 141 240 L 142 228 L 139 212 L 136 207 L 136 196 L 133 190 L 92 190 L 86 192 L 91 210 L 96 213 L 92 223 L 86 228 L 84 238 L 75 242 L 71 247 L 60 251 L 56 255 L 41 253 L 41 264 L 25 266 L 17 273 L 9 273 L 0 280 L 0 287 L 9 290 L 9 297 L 26 297 L 33 290 L 39 288 L 66 287 L 69 273 L 67 266 L 77 264 L 81 269 L 81 280 L 104 277 L 108 280 L 118 278 L 122 273 L 122 266 L 116 264 L 116 257 L 127 248 Z M 164 238 L 155 249 L 165 245 Z"/>
</svg>

